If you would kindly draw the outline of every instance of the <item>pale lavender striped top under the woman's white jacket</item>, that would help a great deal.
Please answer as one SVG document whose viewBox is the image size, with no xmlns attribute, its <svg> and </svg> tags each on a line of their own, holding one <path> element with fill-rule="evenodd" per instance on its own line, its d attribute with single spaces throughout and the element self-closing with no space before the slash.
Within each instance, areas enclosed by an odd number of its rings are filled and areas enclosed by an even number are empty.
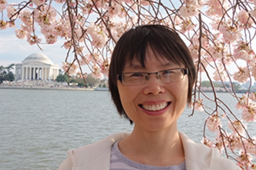
<svg viewBox="0 0 256 170">
<path fill-rule="evenodd" d="M 186 170 L 185 162 L 174 166 L 151 166 L 129 160 L 120 152 L 118 142 L 111 148 L 110 170 Z"/>
</svg>

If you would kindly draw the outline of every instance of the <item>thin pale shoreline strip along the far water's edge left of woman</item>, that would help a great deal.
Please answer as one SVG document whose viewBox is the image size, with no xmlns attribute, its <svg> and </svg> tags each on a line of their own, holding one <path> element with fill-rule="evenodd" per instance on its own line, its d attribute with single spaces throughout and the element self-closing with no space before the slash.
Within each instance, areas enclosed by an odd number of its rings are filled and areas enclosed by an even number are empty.
<svg viewBox="0 0 256 170">
<path fill-rule="evenodd" d="M 80 88 L 80 87 L 12 87 L 12 86 L 0 86 L 0 89 L 25 89 L 25 90 L 74 90 L 74 91 L 108 91 L 106 89 L 96 88 Z"/>
</svg>

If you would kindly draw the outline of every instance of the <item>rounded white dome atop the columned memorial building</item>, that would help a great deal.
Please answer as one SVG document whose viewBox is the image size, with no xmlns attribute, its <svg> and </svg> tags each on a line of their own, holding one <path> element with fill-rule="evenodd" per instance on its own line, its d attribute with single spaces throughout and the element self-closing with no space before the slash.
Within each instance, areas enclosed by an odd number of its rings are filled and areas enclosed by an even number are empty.
<svg viewBox="0 0 256 170">
<path fill-rule="evenodd" d="M 40 62 L 46 64 L 53 64 L 50 58 L 48 58 L 45 54 L 42 53 L 32 53 L 28 57 L 26 57 L 22 63 L 31 63 L 31 62 Z"/>
</svg>

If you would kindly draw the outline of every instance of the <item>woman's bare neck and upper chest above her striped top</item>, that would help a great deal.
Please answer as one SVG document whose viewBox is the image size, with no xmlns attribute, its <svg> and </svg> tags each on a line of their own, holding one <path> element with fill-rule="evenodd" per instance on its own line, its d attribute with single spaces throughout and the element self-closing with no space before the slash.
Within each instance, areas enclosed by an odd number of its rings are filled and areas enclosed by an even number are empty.
<svg viewBox="0 0 256 170">
<path fill-rule="evenodd" d="M 140 131 L 134 126 L 133 132 L 119 142 L 120 151 L 136 162 L 155 165 L 179 165 L 184 161 L 184 150 L 177 128 L 164 131 Z"/>
</svg>

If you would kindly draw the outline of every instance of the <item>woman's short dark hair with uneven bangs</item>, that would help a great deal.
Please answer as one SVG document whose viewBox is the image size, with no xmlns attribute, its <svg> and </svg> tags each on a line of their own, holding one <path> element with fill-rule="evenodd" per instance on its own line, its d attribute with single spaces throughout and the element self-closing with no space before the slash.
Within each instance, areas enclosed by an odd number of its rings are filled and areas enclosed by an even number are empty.
<svg viewBox="0 0 256 170">
<path fill-rule="evenodd" d="M 123 73 L 127 62 L 137 59 L 145 68 L 148 48 L 151 48 L 157 58 L 167 58 L 178 65 L 184 65 L 189 70 L 188 104 L 191 104 L 193 85 L 195 83 L 195 65 L 189 49 L 179 34 L 164 25 L 141 25 L 125 32 L 118 40 L 112 54 L 109 67 L 109 91 L 118 113 L 129 119 L 120 100 L 117 75 Z M 133 121 L 129 119 L 131 124 Z"/>
</svg>

